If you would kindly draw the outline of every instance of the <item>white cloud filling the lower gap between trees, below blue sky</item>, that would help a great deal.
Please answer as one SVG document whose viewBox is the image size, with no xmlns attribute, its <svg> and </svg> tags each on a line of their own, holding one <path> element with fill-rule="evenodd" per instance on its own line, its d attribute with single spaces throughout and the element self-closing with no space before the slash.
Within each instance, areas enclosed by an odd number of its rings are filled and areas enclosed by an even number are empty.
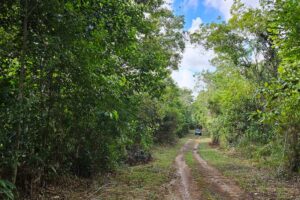
<svg viewBox="0 0 300 200">
<path fill-rule="evenodd" d="M 200 17 L 193 20 L 190 32 L 197 30 L 202 23 Z M 214 57 L 213 51 L 207 51 L 203 46 L 193 45 L 189 40 L 186 41 L 183 58 L 178 71 L 173 71 L 172 77 L 180 87 L 185 87 L 194 91 L 196 96 L 196 79 L 194 75 L 202 71 L 212 71 L 214 67 L 210 60 Z"/>
</svg>

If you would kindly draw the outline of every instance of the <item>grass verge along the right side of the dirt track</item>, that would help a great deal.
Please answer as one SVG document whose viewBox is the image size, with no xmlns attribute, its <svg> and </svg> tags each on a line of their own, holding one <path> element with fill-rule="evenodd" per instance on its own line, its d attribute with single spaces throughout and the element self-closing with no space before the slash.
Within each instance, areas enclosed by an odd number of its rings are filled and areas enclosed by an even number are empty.
<svg viewBox="0 0 300 200">
<path fill-rule="evenodd" d="M 275 178 L 270 170 L 258 168 L 259 163 L 242 155 L 211 147 L 210 141 L 210 138 L 201 138 L 201 157 L 234 180 L 253 199 L 300 199 L 299 182 Z"/>
</svg>

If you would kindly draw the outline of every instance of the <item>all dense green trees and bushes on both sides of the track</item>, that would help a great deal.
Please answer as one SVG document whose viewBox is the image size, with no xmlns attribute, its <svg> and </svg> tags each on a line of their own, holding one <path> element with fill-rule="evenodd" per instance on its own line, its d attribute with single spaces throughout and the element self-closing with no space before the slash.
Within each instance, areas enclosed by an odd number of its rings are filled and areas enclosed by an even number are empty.
<svg viewBox="0 0 300 200">
<path fill-rule="evenodd" d="M 183 18 L 163 0 L 2 0 L 0 198 L 147 162 L 193 121 L 216 144 L 299 173 L 300 3 L 260 3 L 237 0 L 228 22 L 192 34 L 216 67 L 192 103 L 170 77 Z"/>
</svg>

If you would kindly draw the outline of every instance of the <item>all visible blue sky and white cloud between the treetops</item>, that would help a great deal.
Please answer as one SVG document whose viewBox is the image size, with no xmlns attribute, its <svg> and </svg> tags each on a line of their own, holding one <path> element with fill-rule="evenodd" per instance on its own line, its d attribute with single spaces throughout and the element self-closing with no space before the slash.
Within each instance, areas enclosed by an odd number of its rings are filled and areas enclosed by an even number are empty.
<svg viewBox="0 0 300 200">
<path fill-rule="evenodd" d="M 194 32 L 201 23 L 228 21 L 230 8 L 234 0 L 165 0 L 167 7 L 176 15 L 183 15 L 185 19 L 184 30 Z M 258 7 L 259 0 L 241 0 L 248 7 Z M 218 19 L 221 17 L 221 20 Z M 186 41 L 186 49 L 180 68 L 172 73 L 175 82 L 183 88 L 194 91 L 197 95 L 195 74 L 202 71 L 212 71 L 214 67 L 210 60 L 214 57 L 213 51 L 207 51 L 200 45 L 193 45 Z"/>
</svg>

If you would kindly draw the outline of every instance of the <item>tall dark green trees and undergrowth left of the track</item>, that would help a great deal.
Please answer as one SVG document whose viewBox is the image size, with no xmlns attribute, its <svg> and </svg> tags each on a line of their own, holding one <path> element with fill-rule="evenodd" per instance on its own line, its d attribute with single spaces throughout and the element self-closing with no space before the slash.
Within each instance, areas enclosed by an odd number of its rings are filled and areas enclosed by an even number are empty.
<svg viewBox="0 0 300 200">
<path fill-rule="evenodd" d="M 1 1 L 1 197 L 144 161 L 185 133 L 191 92 L 170 79 L 183 20 L 163 4 Z"/>
</svg>

